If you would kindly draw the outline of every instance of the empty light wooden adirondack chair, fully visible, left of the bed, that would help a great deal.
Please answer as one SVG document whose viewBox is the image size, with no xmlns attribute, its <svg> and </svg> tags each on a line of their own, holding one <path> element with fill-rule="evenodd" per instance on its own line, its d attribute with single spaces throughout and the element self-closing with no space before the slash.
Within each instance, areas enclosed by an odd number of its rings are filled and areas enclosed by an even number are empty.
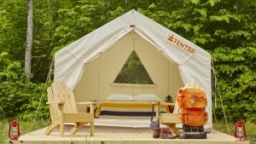
<svg viewBox="0 0 256 144">
<path fill-rule="evenodd" d="M 74 135 L 84 124 L 90 123 L 90 136 L 94 135 L 94 110 L 96 101 L 79 102 L 90 105 L 90 112 L 78 112 L 73 90 L 62 82 L 54 82 L 47 89 L 49 112 L 52 124 L 45 130 L 49 135 L 55 127 L 60 126 L 60 135 L 64 136 L 64 123 L 74 123 L 71 134 Z M 85 107 L 84 107 L 85 109 Z"/>
</svg>

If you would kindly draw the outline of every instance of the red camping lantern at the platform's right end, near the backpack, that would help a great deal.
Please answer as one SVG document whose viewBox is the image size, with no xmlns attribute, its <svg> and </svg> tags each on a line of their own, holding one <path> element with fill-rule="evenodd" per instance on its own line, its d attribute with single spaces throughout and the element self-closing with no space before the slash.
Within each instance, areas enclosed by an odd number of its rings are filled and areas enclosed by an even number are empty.
<svg viewBox="0 0 256 144">
<path fill-rule="evenodd" d="M 241 121 L 236 122 L 234 136 L 236 137 L 236 141 L 245 141 L 247 133 L 245 129 L 245 124 L 241 123 Z"/>
</svg>

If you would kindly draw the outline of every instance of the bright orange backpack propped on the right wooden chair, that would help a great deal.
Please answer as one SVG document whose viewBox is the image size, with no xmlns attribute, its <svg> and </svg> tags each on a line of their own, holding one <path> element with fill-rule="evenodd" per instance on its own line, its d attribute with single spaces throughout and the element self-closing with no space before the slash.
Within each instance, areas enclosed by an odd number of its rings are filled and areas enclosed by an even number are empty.
<svg viewBox="0 0 256 144">
<path fill-rule="evenodd" d="M 179 118 L 183 124 L 202 126 L 207 123 L 208 115 L 205 112 L 207 97 L 201 89 L 178 89 L 177 104 L 180 109 Z"/>
</svg>

